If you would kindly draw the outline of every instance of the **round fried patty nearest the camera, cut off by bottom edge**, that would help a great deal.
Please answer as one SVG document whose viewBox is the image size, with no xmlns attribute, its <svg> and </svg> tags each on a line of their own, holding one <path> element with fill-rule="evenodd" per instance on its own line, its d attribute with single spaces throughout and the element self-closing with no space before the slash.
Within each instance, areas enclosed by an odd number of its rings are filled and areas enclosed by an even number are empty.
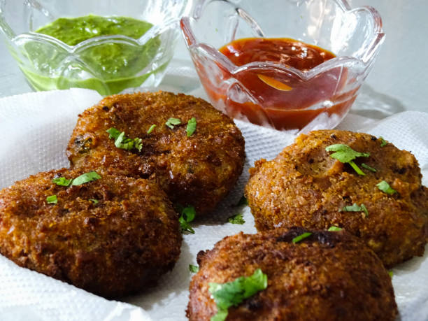
<svg viewBox="0 0 428 321">
<path fill-rule="evenodd" d="M 210 320 L 217 313 L 210 283 L 266 274 L 265 290 L 229 308 L 227 320 L 394 320 L 397 304 L 380 259 L 358 238 L 342 231 L 276 229 L 236 234 L 199 252 L 190 283 L 187 317 Z"/>
</svg>

